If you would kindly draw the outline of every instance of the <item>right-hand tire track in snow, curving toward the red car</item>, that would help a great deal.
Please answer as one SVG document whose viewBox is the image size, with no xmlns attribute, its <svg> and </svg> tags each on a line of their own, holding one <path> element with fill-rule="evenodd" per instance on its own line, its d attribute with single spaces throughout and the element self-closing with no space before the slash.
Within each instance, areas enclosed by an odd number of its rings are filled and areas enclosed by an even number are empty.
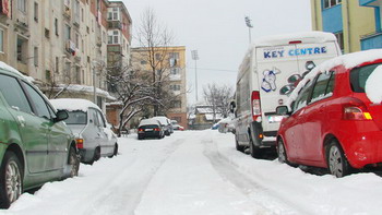
<svg viewBox="0 0 382 215">
<path fill-rule="evenodd" d="M 272 189 L 263 187 L 261 183 L 241 174 L 230 162 L 219 154 L 216 143 L 212 136 L 204 136 L 204 155 L 210 159 L 213 167 L 222 178 L 230 181 L 239 191 L 249 196 L 251 202 L 261 205 L 264 214 L 310 214 L 300 205 L 293 203 L 285 198 L 277 196 Z"/>
</svg>

